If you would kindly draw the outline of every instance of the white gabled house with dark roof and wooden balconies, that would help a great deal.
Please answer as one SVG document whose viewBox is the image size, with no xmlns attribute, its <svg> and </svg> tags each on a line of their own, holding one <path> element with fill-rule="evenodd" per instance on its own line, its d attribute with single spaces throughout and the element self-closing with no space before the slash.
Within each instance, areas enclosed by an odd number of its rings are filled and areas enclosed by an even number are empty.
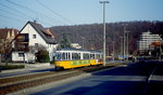
<svg viewBox="0 0 163 95">
<path fill-rule="evenodd" d="M 13 41 L 12 60 L 34 60 L 34 52 L 37 52 L 38 48 L 46 48 L 49 52 L 50 60 L 53 59 L 55 41 L 50 30 L 36 22 L 27 22 Z"/>
</svg>

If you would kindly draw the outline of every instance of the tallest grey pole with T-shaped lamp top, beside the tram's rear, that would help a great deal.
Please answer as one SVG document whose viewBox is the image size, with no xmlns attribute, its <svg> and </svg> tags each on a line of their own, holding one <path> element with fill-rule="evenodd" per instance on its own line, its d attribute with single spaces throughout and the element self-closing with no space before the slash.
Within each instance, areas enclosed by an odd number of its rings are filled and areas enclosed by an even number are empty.
<svg viewBox="0 0 163 95">
<path fill-rule="evenodd" d="M 109 1 L 100 1 L 103 4 L 103 66 L 105 66 L 105 4 Z"/>
</svg>

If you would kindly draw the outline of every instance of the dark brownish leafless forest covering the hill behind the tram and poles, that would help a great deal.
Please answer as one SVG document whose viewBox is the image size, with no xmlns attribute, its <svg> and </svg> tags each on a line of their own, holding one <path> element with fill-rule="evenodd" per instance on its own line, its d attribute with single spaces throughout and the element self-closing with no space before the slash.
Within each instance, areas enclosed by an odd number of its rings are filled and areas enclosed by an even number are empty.
<svg viewBox="0 0 163 95">
<path fill-rule="evenodd" d="M 120 22 L 106 24 L 106 54 L 122 53 L 124 25 L 129 31 L 129 53 L 137 51 L 137 41 L 141 32 L 150 30 L 152 33 L 163 36 L 163 22 Z M 55 36 L 57 42 L 60 43 L 63 36 L 66 36 L 71 43 L 79 43 L 86 50 L 102 50 L 103 48 L 103 24 L 85 24 L 74 26 L 53 26 L 50 30 Z"/>
</svg>

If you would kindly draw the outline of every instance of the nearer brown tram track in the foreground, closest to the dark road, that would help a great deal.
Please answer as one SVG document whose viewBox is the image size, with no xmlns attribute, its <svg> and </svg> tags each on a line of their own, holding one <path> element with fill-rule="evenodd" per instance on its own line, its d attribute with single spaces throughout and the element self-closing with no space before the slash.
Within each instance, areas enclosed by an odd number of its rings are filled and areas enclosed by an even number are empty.
<svg viewBox="0 0 163 95">
<path fill-rule="evenodd" d="M 40 85 L 40 84 L 45 84 L 45 83 L 52 82 L 52 81 L 62 80 L 65 78 L 77 76 L 79 73 L 82 73 L 82 71 L 71 71 L 71 72 L 64 73 L 64 74 L 58 74 L 58 76 L 51 74 L 51 76 L 47 76 L 43 78 L 37 78 L 37 79 L 33 79 L 33 80 L 27 80 L 27 81 L 23 81 L 23 82 L 4 85 L 4 86 L 0 87 L 0 91 L 1 91 L 0 95 L 15 92 L 15 91 L 23 90 L 23 89 L 27 89 L 27 87 L 32 87 L 32 86 L 36 86 L 36 85 Z"/>
</svg>

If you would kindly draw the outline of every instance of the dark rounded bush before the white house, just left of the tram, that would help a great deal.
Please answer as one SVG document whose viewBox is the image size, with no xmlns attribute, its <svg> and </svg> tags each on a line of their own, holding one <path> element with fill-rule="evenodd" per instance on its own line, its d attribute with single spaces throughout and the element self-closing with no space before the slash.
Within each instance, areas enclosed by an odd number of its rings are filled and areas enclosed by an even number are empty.
<svg viewBox="0 0 163 95">
<path fill-rule="evenodd" d="M 40 50 L 36 53 L 37 62 L 39 63 L 50 63 L 49 52 L 46 50 Z"/>
</svg>

